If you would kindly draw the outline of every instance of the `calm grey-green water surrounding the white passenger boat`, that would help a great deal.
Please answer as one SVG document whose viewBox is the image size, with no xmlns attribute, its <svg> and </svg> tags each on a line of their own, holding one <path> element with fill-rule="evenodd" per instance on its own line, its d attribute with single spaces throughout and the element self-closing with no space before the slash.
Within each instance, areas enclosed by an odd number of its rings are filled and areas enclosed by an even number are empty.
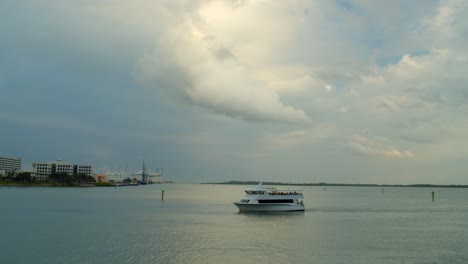
<svg viewBox="0 0 468 264">
<path fill-rule="evenodd" d="M 304 187 L 305 212 L 239 214 L 244 187 L 2 187 L 0 263 L 468 263 L 468 189 Z"/>
</svg>

